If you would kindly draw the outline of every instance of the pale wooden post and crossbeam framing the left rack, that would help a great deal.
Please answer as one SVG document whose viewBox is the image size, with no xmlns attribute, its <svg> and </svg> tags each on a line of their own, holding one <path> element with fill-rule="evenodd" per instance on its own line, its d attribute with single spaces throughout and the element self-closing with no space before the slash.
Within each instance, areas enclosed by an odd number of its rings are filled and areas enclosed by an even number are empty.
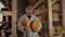
<svg viewBox="0 0 65 37">
<path fill-rule="evenodd" d="M 8 22 L 8 16 L 11 15 L 12 16 L 12 27 L 10 30 L 6 32 L 12 32 L 12 34 L 9 37 L 17 37 L 16 34 L 16 0 L 12 0 L 12 11 L 0 11 L 1 14 L 3 14 L 3 16 L 5 16 L 5 22 L 0 22 L 1 24 L 3 23 L 10 23 Z M 5 37 L 4 35 L 4 30 L 0 32 L 1 33 L 1 37 Z"/>
</svg>

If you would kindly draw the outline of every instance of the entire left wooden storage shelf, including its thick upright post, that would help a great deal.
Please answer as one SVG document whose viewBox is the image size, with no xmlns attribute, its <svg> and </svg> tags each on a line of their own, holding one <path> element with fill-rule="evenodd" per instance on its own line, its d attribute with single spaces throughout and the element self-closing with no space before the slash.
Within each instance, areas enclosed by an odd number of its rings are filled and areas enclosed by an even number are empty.
<svg viewBox="0 0 65 37">
<path fill-rule="evenodd" d="M 16 0 L 0 0 L 3 5 L 9 9 L 2 8 L 2 24 L 0 26 L 0 37 L 17 37 L 16 35 Z M 4 3 L 6 2 L 6 3 Z M 6 11 L 5 11 L 6 10 Z"/>
</svg>

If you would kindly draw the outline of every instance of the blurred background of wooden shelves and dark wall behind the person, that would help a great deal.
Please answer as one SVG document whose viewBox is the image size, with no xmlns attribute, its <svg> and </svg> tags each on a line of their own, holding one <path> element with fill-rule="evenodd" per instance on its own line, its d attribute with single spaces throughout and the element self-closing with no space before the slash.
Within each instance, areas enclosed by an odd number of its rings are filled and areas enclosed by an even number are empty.
<svg viewBox="0 0 65 37">
<path fill-rule="evenodd" d="M 28 5 L 34 8 L 34 15 L 42 23 L 39 37 L 64 37 L 64 3 L 65 0 L 0 0 L 0 37 L 23 36 L 23 33 L 16 28 L 17 24 L 14 25 L 13 22 L 17 22 L 25 14 L 25 8 Z M 14 32 L 15 35 L 11 36 Z"/>
</svg>

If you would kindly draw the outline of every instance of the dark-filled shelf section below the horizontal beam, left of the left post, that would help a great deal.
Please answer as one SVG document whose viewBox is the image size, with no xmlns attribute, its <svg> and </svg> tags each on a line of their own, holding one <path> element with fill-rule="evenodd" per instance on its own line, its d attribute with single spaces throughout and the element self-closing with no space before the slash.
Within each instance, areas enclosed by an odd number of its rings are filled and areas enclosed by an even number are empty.
<svg viewBox="0 0 65 37">
<path fill-rule="evenodd" d="M 6 33 L 6 34 L 10 34 L 12 33 L 12 12 L 11 11 L 0 11 L 0 13 L 3 15 L 2 16 L 2 22 L 0 22 L 1 25 L 1 34 L 2 33 Z M 5 34 L 5 37 L 9 37 L 10 35 L 6 36 Z M 4 37 L 4 36 L 3 36 Z"/>
</svg>

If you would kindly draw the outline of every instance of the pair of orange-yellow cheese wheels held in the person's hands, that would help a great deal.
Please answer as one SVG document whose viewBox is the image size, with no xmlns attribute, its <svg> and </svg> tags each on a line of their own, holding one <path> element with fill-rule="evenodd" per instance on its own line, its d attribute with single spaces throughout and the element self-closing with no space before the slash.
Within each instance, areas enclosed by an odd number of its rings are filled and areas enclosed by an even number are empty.
<svg viewBox="0 0 65 37">
<path fill-rule="evenodd" d="M 32 32 L 37 32 L 37 29 L 39 27 L 39 21 L 38 20 L 34 20 L 30 23 L 28 20 L 22 20 L 21 23 L 24 26 L 25 30 L 30 28 Z"/>
</svg>

